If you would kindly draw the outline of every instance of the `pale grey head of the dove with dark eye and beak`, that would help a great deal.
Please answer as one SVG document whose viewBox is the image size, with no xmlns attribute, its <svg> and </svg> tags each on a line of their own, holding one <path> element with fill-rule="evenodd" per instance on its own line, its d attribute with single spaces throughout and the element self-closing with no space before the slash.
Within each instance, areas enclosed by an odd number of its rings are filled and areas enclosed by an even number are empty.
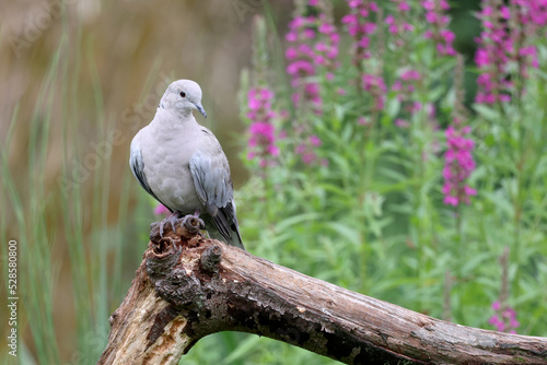
<svg viewBox="0 0 547 365">
<path fill-rule="evenodd" d="M 201 87 L 191 80 L 177 80 L 171 83 L 163 94 L 160 107 L 183 115 L 196 109 L 207 118 L 207 113 L 201 106 Z"/>
</svg>

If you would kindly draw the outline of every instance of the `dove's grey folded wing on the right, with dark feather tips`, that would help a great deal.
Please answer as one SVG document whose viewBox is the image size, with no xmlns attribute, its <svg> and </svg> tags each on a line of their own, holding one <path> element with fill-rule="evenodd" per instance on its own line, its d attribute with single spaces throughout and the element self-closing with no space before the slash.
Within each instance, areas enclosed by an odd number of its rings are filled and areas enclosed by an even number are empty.
<svg viewBox="0 0 547 365">
<path fill-rule="evenodd" d="M 228 158 L 214 136 L 202 127 L 205 141 L 212 148 L 198 150 L 190 157 L 190 174 L 199 200 L 228 243 L 243 247 L 233 202 L 233 184 Z M 235 233 L 236 237 L 232 238 Z"/>
</svg>

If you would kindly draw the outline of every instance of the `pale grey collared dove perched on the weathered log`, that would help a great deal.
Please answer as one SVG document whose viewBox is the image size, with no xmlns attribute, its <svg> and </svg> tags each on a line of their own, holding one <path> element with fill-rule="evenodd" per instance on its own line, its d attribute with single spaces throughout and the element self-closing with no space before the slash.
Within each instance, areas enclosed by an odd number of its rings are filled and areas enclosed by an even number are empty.
<svg viewBox="0 0 547 365">
<path fill-rule="evenodd" d="M 154 119 L 131 141 L 129 165 L 140 185 L 171 216 L 199 215 L 212 238 L 241 247 L 230 165 L 214 134 L 191 111 L 207 118 L 201 89 L 190 80 L 167 86 Z"/>
</svg>

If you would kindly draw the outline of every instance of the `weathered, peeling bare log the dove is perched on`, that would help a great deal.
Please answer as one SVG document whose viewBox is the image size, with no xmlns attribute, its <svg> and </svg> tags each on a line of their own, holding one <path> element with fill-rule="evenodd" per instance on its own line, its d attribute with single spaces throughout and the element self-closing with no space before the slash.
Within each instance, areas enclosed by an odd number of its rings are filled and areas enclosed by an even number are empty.
<svg viewBox="0 0 547 365">
<path fill-rule="evenodd" d="M 547 338 L 459 326 L 306 276 L 198 234 L 158 227 L 98 364 L 177 364 L 202 337 L 243 331 L 347 364 L 547 364 Z"/>
</svg>

